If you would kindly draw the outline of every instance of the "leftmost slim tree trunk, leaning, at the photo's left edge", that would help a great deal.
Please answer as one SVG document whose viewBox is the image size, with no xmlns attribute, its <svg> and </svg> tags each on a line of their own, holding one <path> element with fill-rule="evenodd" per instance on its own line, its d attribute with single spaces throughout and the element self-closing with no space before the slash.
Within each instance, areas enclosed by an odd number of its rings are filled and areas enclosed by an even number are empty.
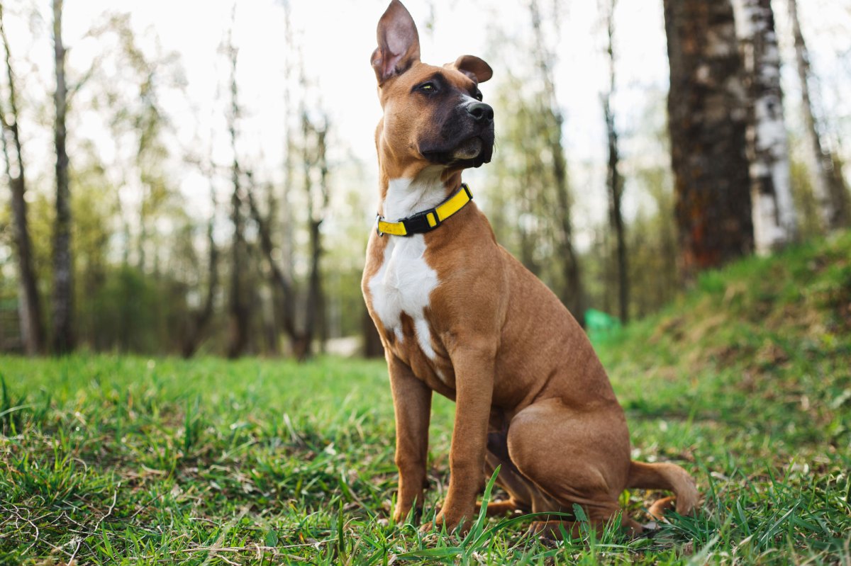
<svg viewBox="0 0 851 566">
<path fill-rule="evenodd" d="M 12 54 L 6 27 L 3 20 L 3 4 L 0 3 L 0 37 L 6 55 L 6 76 L 8 93 L 4 104 L 0 106 L 0 122 L 3 125 L 3 157 L 6 163 L 6 175 L 12 193 L 13 240 L 18 260 L 18 296 L 21 338 L 27 354 L 38 354 L 43 348 L 44 331 L 42 325 L 41 299 L 35 269 L 32 265 L 32 244 L 30 229 L 26 217 L 26 175 L 24 157 L 21 155 L 18 94 L 12 71 Z M 10 138 L 10 139 L 9 139 Z M 9 145 L 14 149 L 14 159 L 9 155 Z"/>
</svg>

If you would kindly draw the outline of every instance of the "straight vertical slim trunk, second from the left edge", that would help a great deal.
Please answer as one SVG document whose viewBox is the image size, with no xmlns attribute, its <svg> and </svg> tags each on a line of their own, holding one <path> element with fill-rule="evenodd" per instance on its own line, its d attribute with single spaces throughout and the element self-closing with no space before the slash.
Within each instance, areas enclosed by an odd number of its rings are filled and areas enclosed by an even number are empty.
<svg viewBox="0 0 851 566">
<path fill-rule="evenodd" d="M 68 186 L 66 151 L 66 110 L 68 93 L 65 78 L 65 46 L 62 44 L 62 0 L 54 0 L 54 56 L 56 91 L 56 219 L 54 221 L 54 304 L 53 349 L 67 354 L 74 348 L 73 265 L 71 260 L 71 190 Z"/>
</svg>

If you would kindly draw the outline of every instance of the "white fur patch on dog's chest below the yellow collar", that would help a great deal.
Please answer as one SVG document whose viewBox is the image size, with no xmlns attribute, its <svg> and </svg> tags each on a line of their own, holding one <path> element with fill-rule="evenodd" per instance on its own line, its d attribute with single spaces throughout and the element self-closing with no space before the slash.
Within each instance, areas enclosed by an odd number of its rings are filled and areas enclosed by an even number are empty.
<svg viewBox="0 0 851 566">
<path fill-rule="evenodd" d="M 384 251 L 384 260 L 378 272 L 369 280 L 369 293 L 373 309 L 386 331 L 393 332 L 403 341 L 402 314 L 414 320 L 414 329 L 420 348 L 434 358 L 431 332 L 426 321 L 425 308 L 429 306 L 431 291 L 437 288 L 437 272 L 426 263 L 426 240 L 423 235 L 408 238 L 390 237 Z"/>
</svg>

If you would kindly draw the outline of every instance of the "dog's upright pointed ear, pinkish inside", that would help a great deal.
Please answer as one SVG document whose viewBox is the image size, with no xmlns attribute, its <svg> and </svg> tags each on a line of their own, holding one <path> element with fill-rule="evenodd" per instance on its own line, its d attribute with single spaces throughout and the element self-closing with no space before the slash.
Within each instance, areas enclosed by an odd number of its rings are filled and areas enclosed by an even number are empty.
<svg viewBox="0 0 851 566">
<path fill-rule="evenodd" d="M 420 36 L 414 18 L 399 0 L 392 0 L 378 22 L 378 48 L 372 54 L 379 86 L 419 60 Z"/>
</svg>

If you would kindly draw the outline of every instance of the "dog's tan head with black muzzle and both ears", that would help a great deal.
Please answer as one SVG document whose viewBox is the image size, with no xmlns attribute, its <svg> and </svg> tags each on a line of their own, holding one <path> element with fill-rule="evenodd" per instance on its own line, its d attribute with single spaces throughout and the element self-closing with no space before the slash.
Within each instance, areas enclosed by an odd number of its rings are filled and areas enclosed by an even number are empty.
<svg viewBox="0 0 851 566">
<path fill-rule="evenodd" d="M 472 55 L 441 67 L 420 62 L 417 27 L 399 0 L 379 20 L 371 60 L 384 109 L 376 133 L 380 154 L 389 151 L 405 169 L 464 169 L 490 161 L 494 109 L 478 89 L 493 75 L 487 63 Z"/>
</svg>

